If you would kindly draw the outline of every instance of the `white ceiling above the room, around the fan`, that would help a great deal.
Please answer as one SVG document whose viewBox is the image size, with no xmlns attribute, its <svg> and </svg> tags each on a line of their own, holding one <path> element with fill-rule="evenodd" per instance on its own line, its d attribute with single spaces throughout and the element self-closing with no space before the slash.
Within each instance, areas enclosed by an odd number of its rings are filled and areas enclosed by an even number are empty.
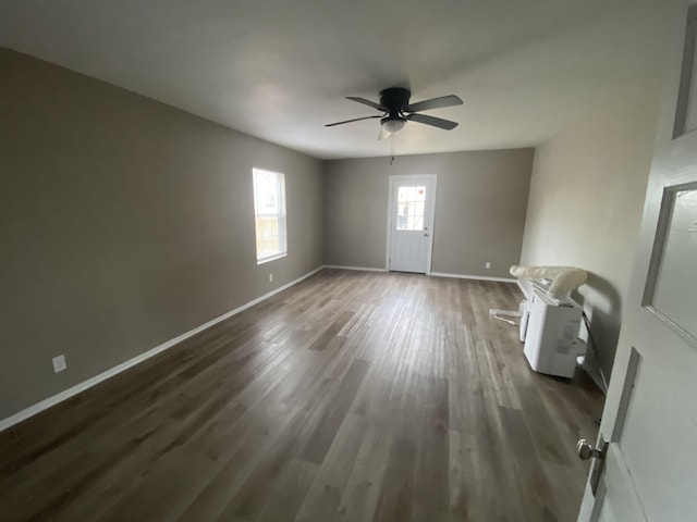
<svg viewBox="0 0 697 522">
<path fill-rule="evenodd" d="M 389 154 L 375 101 L 455 94 L 396 151 L 527 147 L 660 74 L 667 0 L 2 0 L 0 46 L 317 158 Z"/>
</svg>

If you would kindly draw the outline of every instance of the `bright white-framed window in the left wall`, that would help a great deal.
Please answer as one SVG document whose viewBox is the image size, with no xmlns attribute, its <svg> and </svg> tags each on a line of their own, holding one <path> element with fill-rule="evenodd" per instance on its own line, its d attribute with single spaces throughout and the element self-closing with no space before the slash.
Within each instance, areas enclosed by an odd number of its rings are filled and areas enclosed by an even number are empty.
<svg viewBox="0 0 697 522">
<path fill-rule="evenodd" d="M 285 174 L 253 170 L 257 264 L 288 253 L 285 241 Z"/>
</svg>

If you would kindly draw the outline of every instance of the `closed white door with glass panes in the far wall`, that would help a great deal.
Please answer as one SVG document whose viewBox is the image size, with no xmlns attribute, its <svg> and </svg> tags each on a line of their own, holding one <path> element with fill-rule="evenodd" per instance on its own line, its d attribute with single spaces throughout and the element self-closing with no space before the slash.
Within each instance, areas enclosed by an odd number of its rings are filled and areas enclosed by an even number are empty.
<svg viewBox="0 0 697 522">
<path fill-rule="evenodd" d="M 390 176 L 388 270 L 430 273 L 436 176 Z"/>
</svg>

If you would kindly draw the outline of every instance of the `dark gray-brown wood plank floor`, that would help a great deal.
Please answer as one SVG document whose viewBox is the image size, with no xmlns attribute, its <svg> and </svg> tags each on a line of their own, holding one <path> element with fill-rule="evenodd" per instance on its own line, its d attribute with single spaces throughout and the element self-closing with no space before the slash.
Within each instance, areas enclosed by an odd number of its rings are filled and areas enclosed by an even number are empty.
<svg viewBox="0 0 697 522">
<path fill-rule="evenodd" d="M 603 398 L 521 298 L 325 270 L 0 433 L 0 520 L 574 521 Z"/>
</svg>

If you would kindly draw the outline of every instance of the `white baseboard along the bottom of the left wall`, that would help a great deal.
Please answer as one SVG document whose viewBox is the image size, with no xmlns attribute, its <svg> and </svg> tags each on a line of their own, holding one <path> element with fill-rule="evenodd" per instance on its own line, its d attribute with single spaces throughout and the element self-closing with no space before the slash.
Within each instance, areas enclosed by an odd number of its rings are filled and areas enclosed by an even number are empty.
<svg viewBox="0 0 697 522">
<path fill-rule="evenodd" d="M 15 425 L 19 424 L 20 422 L 36 415 L 37 413 L 49 409 L 50 407 L 58 405 L 59 402 L 62 402 L 66 399 L 70 399 L 71 397 L 88 389 L 91 388 L 93 386 L 108 380 L 109 377 L 113 377 L 114 375 L 124 372 L 125 370 L 135 366 L 136 364 L 150 359 L 151 357 L 157 356 L 158 353 L 167 350 L 168 348 L 171 348 L 174 345 L 178 345 L 179 343 L 181 343 L 182 340 L 185 340 L 196 334 L 198 334 L 199 332 L 203 332 L 206 328 L 211 327 L 215 324 L 218 324 L 222 321 L 224 321 L 225 319 L 230 319 L 233 315 L 246 310 L 247 308 L 254 307 L 255 304 L 268 299 L 271 296 L 274 296 L 276 294 L 279 294 L 283 290 L 285 290 L 286 288 L 290 288 L 293 285 L 296 285 L 297 283 L 299 283 L 303 279 L 306 279 L 307 277 L 315 275 L 317 272 L 319 272 L 320 270 L 322 270 L 325 266 L 319 266 L 318 269 L 313 270 L 311 272 L 308 272 L 307 274 L 298 277 L 297 279 L 291 281 L 290 283 L 286 283 L 283 286 L 280 286 L 265 295 L 262 295 L 261 297 L 257 297 L 256 299 L 239 307 L 235 308 L 234 310 L 231 310 L 228 313 L 224 313 L 216 319 L 212 319 L 210 321 L 208 321 L 205 324 L 201 324 L 200 326 L 196 326 L 194 330 L 189 330 L 188 332 L 174 337 L 173 339 L 170 339 L 159 346 L 156 346 L 155 348 L 149 349 L 148 351 L 145 351 L 143 353 L 140 353 L 139 356 L 134 357 L 133 359 L 129 359 L 125 362 L 122 362 L 121 364 L 118 364 L 113 368 L 110 368 L 109 370 L 101 372 L 98 375 L 95 375 L 91 378 L 88 378 L 87 381 L 83 381 L 80 384 L 76 384 L 75 386 L 72 386 L 63 391 L 61 391 L 60 394 L 53 395 L 52 397 L 49 397 L 48 399 L 44 399 L 40 402 L 37 402 L 36 405 L 29 406 L 28 408 L 25 408 L 22 411 L 19 411 L 17 413 L 14 413 L 13 415 L 8 417 L 7 419 L 2 419 L 0 421 L 0 432 Z"/>
</svg>

